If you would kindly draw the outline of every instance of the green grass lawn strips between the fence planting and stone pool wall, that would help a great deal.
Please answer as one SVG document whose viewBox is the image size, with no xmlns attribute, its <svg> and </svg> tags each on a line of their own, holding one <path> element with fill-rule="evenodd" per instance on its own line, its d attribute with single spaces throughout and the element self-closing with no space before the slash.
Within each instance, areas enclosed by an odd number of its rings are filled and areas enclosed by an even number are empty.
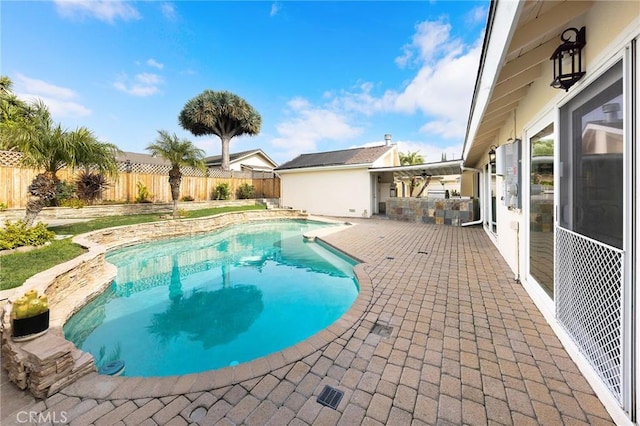
<svg viewBox="0 0 640 426">
<path fill-rule="evenodd" d="M 193 210 L 186 213 L 187 218 L 213 216 L 219 213 L 264 210 L 264 206 L 229 206 L 216 207 L 202 210 Z M 93 219 L 88 222 L 73 223 L 70 225 L 55 226 L 49 229 L 58 235 L 78 235 L 98 229 L 114 226 L 134 225 L 136 223 L 156 222 L 160 220 L 158 214 L 139 214 L 129 216 L 108 216 Z M 45 271 L 55 265 L 64 263 L 84 253 L 85 250 L 71 242 L 71 238 L 53 241 L 50 245 L 26 253 L 12 253 L 0 256 L 0 290 L 7 290 L 21 286 L 25 280 L 38 272 Z"/>
</svg>

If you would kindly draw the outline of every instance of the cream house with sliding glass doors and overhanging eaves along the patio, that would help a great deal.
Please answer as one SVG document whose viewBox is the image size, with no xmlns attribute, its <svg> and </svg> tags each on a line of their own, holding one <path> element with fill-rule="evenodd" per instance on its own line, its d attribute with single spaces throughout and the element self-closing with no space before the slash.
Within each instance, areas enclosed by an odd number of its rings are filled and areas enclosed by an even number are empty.
<svg viewBox="0 0 640 426">
<path fill-rule="evenodd" d="M 582 27 L 586 72 L 558 90 Z M 461 185 L 618 424 L 640 414 L 639 38 L 638 1 L 492 2 Z"/>
</svg>

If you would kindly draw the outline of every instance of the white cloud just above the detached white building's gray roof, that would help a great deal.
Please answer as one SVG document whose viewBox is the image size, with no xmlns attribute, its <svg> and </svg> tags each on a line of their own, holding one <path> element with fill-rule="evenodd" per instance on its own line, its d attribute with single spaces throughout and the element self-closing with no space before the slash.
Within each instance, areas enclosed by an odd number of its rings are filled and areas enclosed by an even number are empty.
<svg viewBox="0 0 640 426">
<path fill-rule="evenodd" d="M 278 136 L 271 140 L 274 147 L 284 149 L 288 158 L 313 152 L 322 141 L 351 140 L 362 129 L 349 124 L 347 116 L 330 108 L 314 107 L 306 99 L 294 98 L 287 104 L 291 117 L 278 124 Z"/>
</svg>

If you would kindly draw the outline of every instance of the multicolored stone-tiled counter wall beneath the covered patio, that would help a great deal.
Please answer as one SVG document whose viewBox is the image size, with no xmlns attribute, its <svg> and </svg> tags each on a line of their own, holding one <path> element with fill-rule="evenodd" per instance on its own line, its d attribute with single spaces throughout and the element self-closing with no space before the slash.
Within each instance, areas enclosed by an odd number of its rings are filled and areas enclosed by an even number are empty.
<svg viewBox="0 0 640 426">
<path fill-rule="evenodd" d="M 389 198 L 386 215 L 405 222 L 460 226 L 478 217 L 478 200 L 465 198 Z"/>
</svg>

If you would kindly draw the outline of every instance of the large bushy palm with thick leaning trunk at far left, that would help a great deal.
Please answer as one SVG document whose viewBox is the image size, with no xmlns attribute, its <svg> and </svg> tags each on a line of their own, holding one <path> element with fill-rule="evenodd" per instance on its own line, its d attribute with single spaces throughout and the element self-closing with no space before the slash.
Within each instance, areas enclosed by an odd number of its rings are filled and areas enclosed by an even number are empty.
<svg viewBox="0 0 640 426">
<path fill-rule="evenodd" d="M 5 146 L 22 152 L 24 166 L 44 169 L 28 188 L 27 226 L 31 226 L 43 207 L 55 199 L 60 169 L 85 167 L 113 177 L 118 174 L 118 148 L 115 145 L 98 141 L 85 127 L 69 131 L 55 124 L 42 102 L 30 106 L 28 120 L 3 127 L 2 133 Z"/>
</svg>

